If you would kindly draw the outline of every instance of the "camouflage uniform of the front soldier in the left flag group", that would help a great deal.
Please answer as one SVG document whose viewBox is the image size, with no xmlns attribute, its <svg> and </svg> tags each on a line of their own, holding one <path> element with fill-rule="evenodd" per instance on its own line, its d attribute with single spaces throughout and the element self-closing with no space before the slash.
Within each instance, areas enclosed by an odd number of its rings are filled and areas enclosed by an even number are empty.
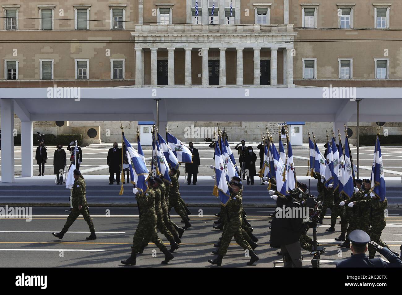
<svg viewBox="0 0 402 295">
<path fill-rule="evenodd" d="M 150 188 L 146 193 L 135 195 L 139 208 L 139 222 L 133 236 L 133 253 L 138 253 L 144 241 L 151 240 L 160 251 L 166 250 L 166 246 L 158 237 L 156 222 L 158 217 L 155 212 L 155 191 Z"/>
</svg>

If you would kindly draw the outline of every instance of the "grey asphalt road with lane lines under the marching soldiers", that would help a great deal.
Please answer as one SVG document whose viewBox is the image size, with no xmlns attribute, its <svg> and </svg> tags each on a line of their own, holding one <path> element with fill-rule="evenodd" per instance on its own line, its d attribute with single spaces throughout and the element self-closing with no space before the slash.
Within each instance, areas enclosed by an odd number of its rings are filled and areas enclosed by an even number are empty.
<svg viewBox="0 0 402 295">
<path fill-rule="evenodd" d="M 98 239 L 85 240 L 89 236 L 88 226 L 82 217 L 78 218 L 62 241 L 55 239 L 51 232 L 59 231 L 63 227 L 68 208 L 33 207 L 33 219 L 27 222 L 24 219 L 4 219 L 0 230 L 0 263 L 2 267 L 123 267 L 121 259 L 130 254 L 130 246 L 135 228 L 138 223 L 137 208 L 91 208 Z M 255 252 L 260 260 L 252 267 L 273 267 L 274 261 L 281 261 L 275 253 L 278 249 L 269 247 L 268 221 L 273 208 L 245 208 L 248 220 L 254 228 L 254 235 L 259 238 Z M 107 210 L 110 216 L 107 217 Z M 190 208 L 191 228 L 185 231 L 180 248 L 174 253 L 175 258 L 168 265 L 160 262 L 164 255 L 154 244 L 149 244 L 144 254 L 137 256 L 135 267 L 213 267 L 207 262 L 215 257 L 211 254 L 213 244 L 217 242 L 222 232 L 212 228 L 213 216 L 217 208 Z M 202 210 L 202 211 L 199 211 Z M 202 216 L 198 216 L 201 214 Z M 329 213 L 329 212 L 328 212 Z M 172 212 L 174 214 L 174 212 Z M 173 216 L 173 221 L 180 224 L 180 219 Z M 350 256 L 350 249 L 339 248 L 334 238 L 340 233 L 340 224 L 336 225 L 336 232 L 327 233 L 329 216 L 324 224 L 317 229 L 318 241 L 325 245 L 326 251 L 321 256 L 320 267 L 335 267 L 334 262 Z M 387 242 L 391 249 L 400 252 L 402 243 L 402 210 L 390 209 L 387 217 L 387 226 L 381 239 Z M 312 230 L 308 234 L 312 236 Z M 164 236 L 159 236 L 167 245 Z M 156 256 L 152 254 L 156 253 Z M 304 267 L 311 267 L 311 255 L 304 254 Z M 378 255 L 377 255 L 378 256 Z M 227 256 L 224 257 L 222 267 L 247 267 L 249 258 L 244 251 L 235 244 L 230 244 Z M 279 263 L 277 265 L 283 265 Z"/>
</svg>

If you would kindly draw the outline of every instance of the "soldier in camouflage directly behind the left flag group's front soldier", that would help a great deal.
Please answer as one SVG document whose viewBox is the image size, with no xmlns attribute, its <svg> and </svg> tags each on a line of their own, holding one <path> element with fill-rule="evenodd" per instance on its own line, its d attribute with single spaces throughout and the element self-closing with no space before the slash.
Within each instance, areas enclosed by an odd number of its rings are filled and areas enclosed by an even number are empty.
<svg viewBox="0 0 402 295">
<path fill-rule="evenodd" d="M 156 217 L 158 218 L 158 221 L 156 222 L 156 228 L 163 234 L 166 239 L 170 242 L 170 253 L 173 253 L 174 250 L 178 249 L 178 243 L 181 243 L 180 238 L 177 235 L 173 236 L 172 233 L 168 230 L 166 227 L 166 224 L 163 219 L 163 211 L 162 211 L 162 205 L 161 205 L 161 191 L 159 189 L 160 185 L 162 184 L 162 179 L 159 177 L 154 177 L 155 183 L 152 185 L 152 188 L 155 191 L 155 212 L 156 212 Z M 144 252 L 144 248 L 148 246 L 149 240 L 145 240 L 142 243 L 142 246 L 139 250 L 139 253 Z"/>
</svg>

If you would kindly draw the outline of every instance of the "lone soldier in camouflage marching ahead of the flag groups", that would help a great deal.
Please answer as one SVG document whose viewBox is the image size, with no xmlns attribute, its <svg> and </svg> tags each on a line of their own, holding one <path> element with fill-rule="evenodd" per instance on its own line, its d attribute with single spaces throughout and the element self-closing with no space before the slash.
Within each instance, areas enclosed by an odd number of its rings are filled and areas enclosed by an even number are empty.
<svg viewBox="0 0 402 295">
<path fill-rule="evenodd" d="M 74 185 L 72 187 L 72 205 L 70 214 L 68 215 L 67 222 L 64 225 L 64 228 L 61 232 L 57 234 L 52 232 L 53 236 L 59 238 L 60 240 L 63 238 L 64 234 L 68 231 L 70 226 L 74 223 L 80 214 L 84 217 L 84 220 L 89 226 L 89 230 L 91 232 L 90 236 L 86 238 L 86 240 L 95 240 L 95 228 L 92 222 L 92 218 L 89 215 L 88 203 L 86 202 L 86 184 L 84 177 L 82 177 L 81 172 L 79 170 L 74 170 Z"/>
</svg>

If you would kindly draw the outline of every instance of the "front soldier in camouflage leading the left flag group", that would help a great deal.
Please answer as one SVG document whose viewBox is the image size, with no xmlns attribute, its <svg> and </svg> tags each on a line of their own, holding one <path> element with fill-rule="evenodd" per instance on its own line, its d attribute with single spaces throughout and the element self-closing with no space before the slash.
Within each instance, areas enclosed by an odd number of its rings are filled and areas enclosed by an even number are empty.
<svg viewBox="0 0 402 295">
<path fill-rule="evenodd" d="M 151 240 L 159 248 L 159 250 L 165 254 L 165 260 L 162 261 L 162 264 L 167 264 L 174 258 L 172 253 L 168 251 L 156 232 L 156 223 L 158 221 L 158 217 L 156 216 L 155 212 L 155 191 L 152 188 L 154 183 L 154 178 L 149 177 L 148 191 L 140 193 L 136 188 L 133 189 L 133 193 L 135 193 L 135 199 L 137 200 L 138 204 L 139 222 L 133 236 L 131 256 L 126 260 L 121 260 L 122 264 L 135 265 L 135 258 L 137 253 L 141 250 L 144 240 Z"/>
</svg>

